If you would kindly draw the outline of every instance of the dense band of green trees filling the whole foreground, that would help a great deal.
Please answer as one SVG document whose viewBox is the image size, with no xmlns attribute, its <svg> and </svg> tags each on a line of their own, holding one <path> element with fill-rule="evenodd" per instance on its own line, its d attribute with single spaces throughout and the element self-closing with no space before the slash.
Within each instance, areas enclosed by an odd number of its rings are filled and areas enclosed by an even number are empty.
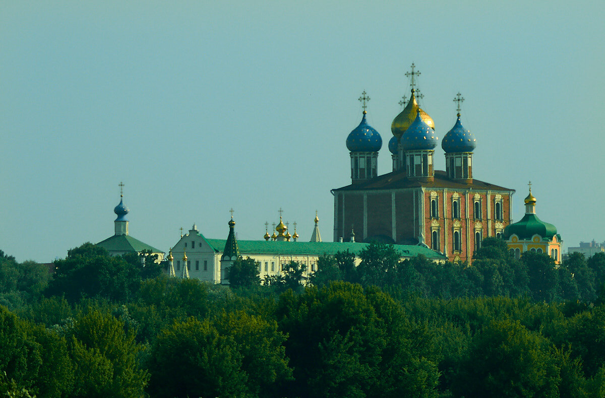
<svg viewBox="0 0 605 398">
<path fill-rule="evenodd" d="M 91 244 L 54 275 L 0 252 L 0 395 L 605 396 L 605 255 L 555 267 L 488 238 L 470 267 L 360 258 L 264 285 L 240 259 L 226 287 Z"/>
</svg>

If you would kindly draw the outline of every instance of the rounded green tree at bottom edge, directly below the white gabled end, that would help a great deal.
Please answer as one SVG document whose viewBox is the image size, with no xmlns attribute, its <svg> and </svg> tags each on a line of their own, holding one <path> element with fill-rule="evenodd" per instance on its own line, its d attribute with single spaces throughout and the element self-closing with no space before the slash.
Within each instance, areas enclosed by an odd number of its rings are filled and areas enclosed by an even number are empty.
<svg viewBox="0 0 605 398">
<path fill-rule="evenodd" d="M 186 354 L 183 354 L 186 353 Z M 189 318 L 160 333 L 149 359 L 152 397 L 245 397 L 247 376 L 234 339 L 206 319 Z"/>
</svg>

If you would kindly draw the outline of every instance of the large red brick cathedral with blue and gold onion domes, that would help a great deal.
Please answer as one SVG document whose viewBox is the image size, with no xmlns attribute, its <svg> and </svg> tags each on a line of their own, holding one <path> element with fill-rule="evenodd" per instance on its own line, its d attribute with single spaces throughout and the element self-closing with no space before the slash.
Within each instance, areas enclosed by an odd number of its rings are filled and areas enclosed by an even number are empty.
<svg viewBox="0 0 605 398">
<path fill-rule="evenodd" d="M 499 237 L 511 223 L 514 190 L 473 178 L 476 139 L 458 119 L 443 137 L 445 171 L 434 170 L 438 138 L 419 108 L 412 69 L 410 101 L 391 125 L 393 172 L 378 175 L 382 138 L 367 124 L 365 91 L 361 123 L 347 137 L 351 184 L 333 189 L 334 240 L 427 245 L 450 261 L 468 261 L 485 237 Z M 417 72 L 416 72 L 417 74 Z"/>
</svg>

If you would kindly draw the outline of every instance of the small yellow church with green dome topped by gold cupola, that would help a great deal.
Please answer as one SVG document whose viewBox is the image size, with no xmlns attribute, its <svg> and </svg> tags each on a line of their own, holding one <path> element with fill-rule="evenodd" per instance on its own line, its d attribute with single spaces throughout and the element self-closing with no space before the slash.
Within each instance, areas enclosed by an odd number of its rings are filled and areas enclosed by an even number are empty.
<svg viewBox="0 0 605 398">
<path fill-rule="evenodd" d="M 546 253 L 561 263 L 561 235 L 557 227 L 545 223 L 535 214 L 536 199 L 529 188 L 525 198 L 525 215 L 517 223 L 511 224 L 504 230 L 504 238 L 509 250 L 515 258 L 520 258 L 523 252 Z"/>
</svg>

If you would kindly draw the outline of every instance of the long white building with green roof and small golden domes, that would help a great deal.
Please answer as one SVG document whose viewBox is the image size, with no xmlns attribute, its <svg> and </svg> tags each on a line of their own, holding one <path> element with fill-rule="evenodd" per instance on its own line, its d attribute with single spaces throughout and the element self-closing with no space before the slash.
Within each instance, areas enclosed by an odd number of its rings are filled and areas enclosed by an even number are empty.
<svg viewBox="0 0 605 398">
<path fill-rule="evenodd" d="M 315 218 L 315 230 L 313 237 L 319 237 L 317 227 L 318 218 Z M 317 270 L 317 261 L 320 256 L 334 255 L 337 252 L 348 250 L 358 254 L 362 249 L 368 246 L 367 243 L 355 242 L 301 242 L 290 240 L 298 238 L 298 234 L 289 237 L 287 227 L 281 222 L 275 227 L 278 234 L 273 233 L 269 237 L 267 232 L 265 240 L 249 241 L 237 240 L 235 237 L 235 221 L 233 218 L 229 221 L 229 235 L 227 239 L 209 239 L 204 237 L 197 229 L 192 227 L 189 233 L 183 235 L 180 240 L 172 247 L 168 259 L 174 258 L 169 265 L 171 275 L 182 278 L 197 278 L 203 281 L 214 283 L 228 283 L 227 269 L 233 261 L 241 256 L 243 258 L 253 258 L 258 263 L 258 270 L 261 279 L 267 276 L 280 275 L 284 265 L 290 261 L 297 261 L 305 267 L 303 278 L 309 278 L 311 273 Z M 419 254 L 433 259 L 434 261 L 445 262 L 446 257 L 425 246 L 417 245 L 394 245 L 394 248 L 401 254 L 401 258 L 412 258 Z M 183 260 L 180 260 L 183 258 Z M 358 259 L 359 263 L 359 259 Z M 170 271 L 174 270 L 174 271 Z M 185 276 L 188 273 L 188 276 Z"/>
</svg>

